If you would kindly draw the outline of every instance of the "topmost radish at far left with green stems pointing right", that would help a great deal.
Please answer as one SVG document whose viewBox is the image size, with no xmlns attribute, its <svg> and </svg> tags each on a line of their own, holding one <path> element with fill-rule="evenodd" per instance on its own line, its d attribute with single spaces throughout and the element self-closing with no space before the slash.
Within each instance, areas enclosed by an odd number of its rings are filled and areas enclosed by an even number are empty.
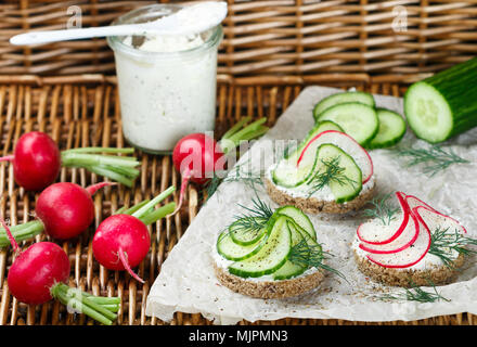
<svg viewBox="0 0 477 347">
<path fill-rule="evenodd" d="M 133 152 L 133 149 L 108 147 L 85 147 L 60 152 L 56 143 L 48 134 L 31 131 L 18 139 L 13 155 L 1 157 L 0 162 L 12 162 L 16 183 L 27 191 L 41 191 L 53 183 L 62 166 L 86 168 L 131 187 L 139 175 L 139 170 L 134 168 L 139 162 L 134 157 L 111 154 Z"/>
</svg>

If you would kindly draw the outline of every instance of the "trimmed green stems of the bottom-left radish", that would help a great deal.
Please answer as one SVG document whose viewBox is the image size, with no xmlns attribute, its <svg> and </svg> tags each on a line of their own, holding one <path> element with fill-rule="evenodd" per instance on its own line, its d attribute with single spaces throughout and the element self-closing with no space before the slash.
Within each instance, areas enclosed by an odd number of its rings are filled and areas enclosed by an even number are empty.
<svg viewBox="0 0 477 347">
<path fill-rule="evenodd" d="M 64 283 L 56 283 L 53 285 L 51 287 L 51 296 L 63 305 L 75 309 L 79 313 L 85 313 L 105 325 L 112 325 L 113 321 L 117 318 L 117 314 L 98 301 L 101 300 L 102 303 L 108 303 L 106 305 L 111 306 L 113 310 L 116 310 L 120 303 L 119 297 L 111 300 L 113 298 L 92 296 L 78 288 L 72 288 Z"/>
</svg>

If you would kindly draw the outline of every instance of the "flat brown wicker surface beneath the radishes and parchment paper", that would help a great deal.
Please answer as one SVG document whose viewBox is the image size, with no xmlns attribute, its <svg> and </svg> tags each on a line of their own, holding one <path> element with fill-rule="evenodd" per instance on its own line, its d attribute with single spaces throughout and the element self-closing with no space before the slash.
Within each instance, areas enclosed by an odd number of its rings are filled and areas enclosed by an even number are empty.
<svg viewBox="0 0 477 347">
<path fill-rule="evenodd" d="M 218 86 L 218 134 L 241 116 L 267 116 L 272 126 L 284 108 L 298 95 L 301 85 L 237 85 L 221 81 Z M 374 93 L 400 95 L 404 87 L 399 85 L 366 85 L 359 89 Z M 18 137 L 29 130 L 39 129 L 50 133 L 62 150 L 107 145 L 125 146 L 119 123 L 119 107 L 114 79 L 103 76 L 76 77 L 75 81 L 55 78 L 20 76 L 9 83 L 0 81 L 0 137 L 2 154 L 9 154 Z M 101 295 L 118 295 L 123 298 L 118 324 L 163 324 L 145 316 L 147 292 L 160 271 L 168 253 L 185 232 L 203 203 L 199 189 L 191 185 L 186 204 L 173 218 L 160 220 L 151 227 L 152 246 L 147 258 L 139 267 L 139 274 L 146 280 L 144 285 L 131 280 L 128 274 L 106 271 L 94 260 L 91 249 L 94 227 L 113 210 L 133 202 L 151 197 L 170 184 L 178 184 L 179 176 L 169 156 L 151 156 L 138 153 L 142 158 L 141 176 L 133 189 L 107 188 L 94 195 L 95 220 L 93 226 L 78 240 L 61 243 L 68 253 L 72 272 L 70 284 Z M 33 220 L 36 195 L 25 193 L 14 183 L 12 166 L 0 164 L 0 213 L 12 224 Z M 61 171 L 62 181 L 87 185 L 99 181 L 82 169 Z M 177 200 L 177 194 L 175 200 Z M 40 235 L 36 241 L 44 240 Z M 23 246 L 27 246 L 25 243 Z M 0 323 L 1 324 L 92 324 L 83 316 L 74 316 L 56 301 L 41 306 L 17 303 L 8 291 L 5 275 L 12 264 L 11 248 L 0 252 Z M 244 322 L 246 323 L 246 322 Z M 336 320 L 284 319 L 260 324 L 353 324 Z M 362 323 L 362 322 L 361 322 Z M 391 322 L 390 324 L 401 324 Z M 199 314 L 177 313 L 172 324 L 210 324 Z M 407 324 L 477 324 L 472 314 L 463 313 L 426 319 Z"/>
</svg>

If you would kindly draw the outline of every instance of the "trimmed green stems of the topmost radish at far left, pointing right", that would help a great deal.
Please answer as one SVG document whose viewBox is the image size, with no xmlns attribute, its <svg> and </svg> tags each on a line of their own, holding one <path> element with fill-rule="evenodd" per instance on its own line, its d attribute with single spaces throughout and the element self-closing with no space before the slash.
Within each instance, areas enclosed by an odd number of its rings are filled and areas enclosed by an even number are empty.
<svg viewBox="0 0 477 347">
<path fill-rule="evenodd" d="M 107 154 L 132 154 L 133 149 L 85 147 L 66 150 L 61 153 L 65 167 L 86 168 L 127 187 L 132 187 L 139 176 L 134 167 L 140 163 L 134 157 Z M 104 154 L 105 153 L 105 154 Z"/>
</svg>

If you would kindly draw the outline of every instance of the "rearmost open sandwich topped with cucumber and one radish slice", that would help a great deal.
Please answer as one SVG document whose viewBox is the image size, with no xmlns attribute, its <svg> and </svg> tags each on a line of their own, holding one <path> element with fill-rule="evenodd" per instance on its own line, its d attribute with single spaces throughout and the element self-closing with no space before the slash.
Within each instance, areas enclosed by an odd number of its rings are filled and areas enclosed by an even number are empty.
<svg viewBox="0 0 477 347">
<path fill-rule="evenodd" d="M 318 123 L 296 150 L 268 169 L 265 181 L 275 203 L 311 214 L 357 210 L 375 188 L 371 156 L 331 120 Z"/>
</svg>

